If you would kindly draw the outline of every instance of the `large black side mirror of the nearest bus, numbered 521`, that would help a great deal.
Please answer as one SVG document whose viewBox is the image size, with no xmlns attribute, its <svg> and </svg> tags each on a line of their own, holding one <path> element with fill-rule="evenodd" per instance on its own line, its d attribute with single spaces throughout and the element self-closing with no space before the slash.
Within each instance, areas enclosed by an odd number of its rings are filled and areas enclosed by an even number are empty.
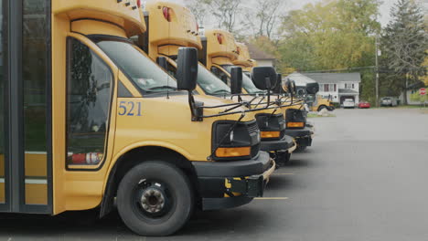
<svg viewBox="0 0 428 241">
<path fill-rule="evenodd" d="M 193 91 L 198 80 L 198 49 L 195 47 L 178 48 L 177 89 Z"/>
</svg>

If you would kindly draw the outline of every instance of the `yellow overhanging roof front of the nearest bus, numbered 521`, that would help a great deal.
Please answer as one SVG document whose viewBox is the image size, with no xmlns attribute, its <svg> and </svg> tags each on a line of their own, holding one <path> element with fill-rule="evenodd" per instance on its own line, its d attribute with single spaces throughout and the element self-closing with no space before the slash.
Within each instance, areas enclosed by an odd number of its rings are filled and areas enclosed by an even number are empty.
<svg viewBox="0 0 428 241">
<path fill-rule="evenodd" d="M 129 5 L 126 5 L 129 2 Z M 143 12 L 136 0 L 59 0 L 52 1 L 52 13 L 70 20 L 91 18 L 121 26 L 128 37 L 145 32 Z"/>
</svg>

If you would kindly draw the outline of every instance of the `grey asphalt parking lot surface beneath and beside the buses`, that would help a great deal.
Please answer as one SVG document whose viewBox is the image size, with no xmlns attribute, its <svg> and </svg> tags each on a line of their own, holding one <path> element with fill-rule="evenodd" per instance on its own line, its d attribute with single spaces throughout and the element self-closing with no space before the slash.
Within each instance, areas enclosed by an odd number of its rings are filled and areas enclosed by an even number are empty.
<svg viewBox="0 0 428 241">
<path fill-rule="evenodd" d="M 428 240 L 428 111 L 336 110 L 314 146 L 273 174 L 262 199 L 198 212 L 169 237 L 140 237 L 116 213 L 0 215 L 0 240 Z"/>
</svg>

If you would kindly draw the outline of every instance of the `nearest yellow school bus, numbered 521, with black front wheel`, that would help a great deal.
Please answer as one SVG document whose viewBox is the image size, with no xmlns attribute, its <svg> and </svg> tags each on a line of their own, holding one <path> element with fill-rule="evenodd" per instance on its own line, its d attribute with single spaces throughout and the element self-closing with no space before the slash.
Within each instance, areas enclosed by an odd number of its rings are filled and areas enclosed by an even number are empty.
<svg viewBox="0 0 428 241">
<path fill-rule="evenodd" d="M 134 46 L 140 1 L 5 2 L 0 212 L 103 216 L 115 202 L 135 233 L 166 236 L 195 207 L 262 195 L 275 164 L 254 116 L 193 95 L 195 48 L 174 79 Z"/>
</svg>

